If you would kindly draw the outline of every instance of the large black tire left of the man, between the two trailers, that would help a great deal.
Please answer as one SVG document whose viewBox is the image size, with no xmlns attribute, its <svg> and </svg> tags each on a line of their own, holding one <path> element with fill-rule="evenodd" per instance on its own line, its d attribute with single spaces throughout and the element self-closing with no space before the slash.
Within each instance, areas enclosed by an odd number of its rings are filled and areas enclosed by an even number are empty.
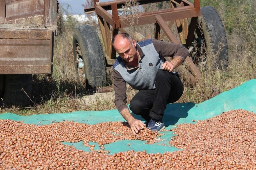
<svg viewBox="0 0 256 170">
<path fill-rule="evenodd" d="M 104 55 L 98 34 L 92 26 L 80 26 L 74 31 L 73 54 L 78 81 L 86 85 L 86 89 L 106 86 Z M 79 60 L 84 65 L 81 69 L 78 67 Z"/>
</svg>

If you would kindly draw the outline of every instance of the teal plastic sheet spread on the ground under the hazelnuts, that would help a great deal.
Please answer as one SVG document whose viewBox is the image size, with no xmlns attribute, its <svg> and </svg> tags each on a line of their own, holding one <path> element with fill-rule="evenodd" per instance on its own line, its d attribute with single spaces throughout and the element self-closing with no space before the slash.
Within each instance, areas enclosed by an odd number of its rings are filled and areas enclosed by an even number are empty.
<svg viewBox="0 0 256 170">
<path fill-rule="evenodd" d="M 173 125 L 183 123 L 196 123 L 197 120 L 205 120 L 223 112 L 230 111 L 232 109 L 244 109 L 250 112 L 256 112 L 256 79 L 247 81 L 242 85 L 233 88 L 229 91 L 223 92 L 212 99 L 204 101 L 200 104 L 188 103 L 173 103 L 168 104 L 163 116 L 163 122 L 166 129 L 170 130 Z M 141 119 L 140 116 L 134 115 L 137 119 Z M 108 111 L 79 111 L 65 114 L 43 114 L 32 116 L 18 116 L 12 113 L 4 113 L 0 115 L 0 119 L 11 119 L 16 121 L 24 121 L 28 124 L 51 124 L 61 121 L 75 121 L 86 124 L 97 124 L 100 122 L 110 121 L 125 121 L 119 114 L 117 109 Z M 141 119 L 143 120 L 143 119 Z M 195 120 L 195 121 L 193 121 Z M 39 123 L 40 122 L 40 123 Z M 114 143 L 104 145 L 105 149 L 110 151 L 110 154 L 123 152 L 127 150 L 144 151 L 147 153 L 164 153 L 173 152 L 178 150 L 177 148 L 170 147 L 168 142 L 174 135 L 172 132 L 160 132 L 165 133 L 162 135 L 159 142 L 154 144 L 145 144 L 145 141 L 140 140 L 120 140 Z M 83 142 L 69 143 L 62 142 L 66 145 L 72 145 L 77 149 L 81 149 L 90 152 L 88 147 L 83 145 Z M 92 145 L 93 142 L 89 143 Z M 128 145 L 130 143 L 130 145 Z M 120 147 L 122 146 L 122 147 Z M 98 144 L 95 143 L 95 150 L 97 150 Z M 98 148 L 99 149 L 99 148 Z"/>
</svg>

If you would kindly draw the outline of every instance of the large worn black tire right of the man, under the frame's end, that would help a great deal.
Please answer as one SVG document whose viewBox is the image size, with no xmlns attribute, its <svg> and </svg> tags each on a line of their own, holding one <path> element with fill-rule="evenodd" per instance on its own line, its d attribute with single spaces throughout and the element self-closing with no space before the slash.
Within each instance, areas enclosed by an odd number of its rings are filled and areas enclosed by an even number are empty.
<svg viewBox="0 0 256 170">
<path fill-rule="evenodd" d="M 224 69 L 228 66 L 228 42 L 222 19 L 211 6 L 201 8 L 194 36 L 194 45 L 198 49 L 192 56 L 197 65 L 205 66 L 207 55 L 217 55 L 213 68 Z"/>
</svg>

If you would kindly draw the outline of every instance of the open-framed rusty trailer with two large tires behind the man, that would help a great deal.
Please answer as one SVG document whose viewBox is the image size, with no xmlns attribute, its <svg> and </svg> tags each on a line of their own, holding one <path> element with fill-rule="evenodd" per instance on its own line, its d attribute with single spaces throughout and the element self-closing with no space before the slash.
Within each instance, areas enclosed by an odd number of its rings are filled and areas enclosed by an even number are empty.
<svg viewBox="0 0 256 170">
<path fill-rule="evenodd" d="M 207 64 L 207 52 L 217 54 L 214 65 L 226 67 L 228 64 L 228 44 L 222 20 L 211 7 L 200 8 L 200 1 L 191 3 L 187 0 L 136 0 L 139 5 L 167 2 L 170 8 L 142 12 L 134 20 L 132 14 L 120 15 L 129 0 L 99 2 L 85 8 L 85 14 L 96 13 L 102 34 L 105 55 L 96 30 L 89 25 L 78 27 L 73 36 L 74 63 L 78 79 L 87 88 L 96 88 L 106 84 L 106 66 L 111 66 L 118 56 L 111 40 L 119 32 L 126 32 L 127 27 L 154 24 L 151 38 L 179 43 L 189 49 L 189 56 L 183 65 L 176 68 L 180 76 L 192 86 L 201 80 L 201 68 Z M 143 8 L 143 7 L 142 7 Z M 172 31 L 173 25 L 178 35 Z M 137 41 L 145 35 L 134 33 Z M 222 45 L 220 45 L 222 44 Z M 166 60 L 172 58 L 166 56 Z M 210 60 L 210 59 L 208 59 Z M 208 62 L 209 63 L 209 62 Z M 224 64 L 220 64 L 224 63 Z"/>
</svg>

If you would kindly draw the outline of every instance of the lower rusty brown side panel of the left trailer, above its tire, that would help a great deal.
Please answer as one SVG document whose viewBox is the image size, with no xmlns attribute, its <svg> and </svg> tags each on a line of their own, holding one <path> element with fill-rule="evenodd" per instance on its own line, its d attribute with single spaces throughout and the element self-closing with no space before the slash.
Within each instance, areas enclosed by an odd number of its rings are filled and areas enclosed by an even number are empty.
<svg viewBox="0 0 256 170">
<path fill-rule="evenodd" d="M 50 74 L 52 44 L 53 38 L 0 39 L 0 73 Z"/>
</svg>

